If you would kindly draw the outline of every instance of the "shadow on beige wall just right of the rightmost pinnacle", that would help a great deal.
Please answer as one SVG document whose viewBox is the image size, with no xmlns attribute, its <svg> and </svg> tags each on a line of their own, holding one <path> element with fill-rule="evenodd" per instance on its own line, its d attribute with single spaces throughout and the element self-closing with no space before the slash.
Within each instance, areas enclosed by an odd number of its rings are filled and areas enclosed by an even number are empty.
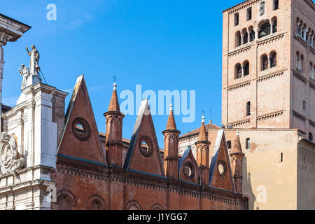
<svg viewBox="0 0 315 224">
<path fill-rule="evenodd" d="M 256 197 L 253 194 L 253 188 L 251 186 L 251 173 L 248 172 L 247 170 L 247 158 L 246 156 L 244 157 L 243 160 L 243 167 L 245 167 L 245 169 L 243 170 L 243 196 L 244 198 L 247 197 L 248 199 L 248 210 L 254 210 L 254 204 L 255 204 L 255 200 Z M 246 209 L 246 208 L 244 208 Z M 255 208 L 257 210 L 259 210 L 259 207 Z"/>
</svg>

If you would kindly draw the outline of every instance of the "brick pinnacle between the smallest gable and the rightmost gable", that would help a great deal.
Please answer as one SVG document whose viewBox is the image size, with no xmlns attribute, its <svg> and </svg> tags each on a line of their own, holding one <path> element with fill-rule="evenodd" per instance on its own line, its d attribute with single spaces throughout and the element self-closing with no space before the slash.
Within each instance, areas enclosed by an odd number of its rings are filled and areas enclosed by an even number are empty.
<svg viewBox="0 0 315 224">
<path fill-rule="evenodd" d="M 202 116 L 202 126 L 196 145 L 196 158 L 197 165 L 200 168 L 201 184 L 204 186 L 209 185 L 209 146 L 210 141 L 207 140 L 206 126 L 204 125 L 204 116 Z"/>
</svg>

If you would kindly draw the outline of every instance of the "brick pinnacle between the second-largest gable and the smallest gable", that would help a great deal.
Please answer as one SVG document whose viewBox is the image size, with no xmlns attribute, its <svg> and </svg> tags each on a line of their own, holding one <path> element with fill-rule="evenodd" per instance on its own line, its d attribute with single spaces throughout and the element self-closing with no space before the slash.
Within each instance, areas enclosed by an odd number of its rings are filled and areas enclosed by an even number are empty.
<svg viewBox="0 0 315 224">
<path fill-rule="evenodd" d="M 174 119 L 173 106 L 169 106 L 169 118 L 167 120 L 167 128 L 162 132 L 164 134 L 164 168 L 165 176 L 169 178 L 179 178 L 179 134 L 181 132 L 176 129 Z"/>
</svg>

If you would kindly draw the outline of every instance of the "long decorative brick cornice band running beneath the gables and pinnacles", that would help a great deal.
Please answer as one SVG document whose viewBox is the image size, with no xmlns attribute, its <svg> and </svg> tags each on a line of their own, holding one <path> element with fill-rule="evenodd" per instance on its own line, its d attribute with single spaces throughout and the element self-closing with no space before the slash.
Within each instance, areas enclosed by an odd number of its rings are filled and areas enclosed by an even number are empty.
<svg viewBox="0 0 315 224">
<path fill-rule="evenodd" d="M 124 183 L 127 186 L 171 191 L 178 193 L 179 195 L 207 197 L 208 199 L 225 202 L 226 204 L 241 203 L 241 197 L 238 198 L 232 191 L 211 188 L 208 186 L 200 186 L 177 179 L 167 179 L 148 174 L 141 174 L 138 172 L 130 172 L 118 167 L 90 164 L 68 158 L 58 157 L 56 172 L 101 181 L 119 182 Z"/>
</svg>

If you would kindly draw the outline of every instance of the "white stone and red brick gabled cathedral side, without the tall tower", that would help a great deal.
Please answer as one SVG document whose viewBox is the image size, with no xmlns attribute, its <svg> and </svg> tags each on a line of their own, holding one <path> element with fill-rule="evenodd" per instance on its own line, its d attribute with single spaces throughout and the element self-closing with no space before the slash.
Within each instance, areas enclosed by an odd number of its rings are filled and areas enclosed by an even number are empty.
<svg viewBox="0 0 315 224">
<path fill-rule="evenodd" d="M 31 27 L 0 15 L 3 46 Z M 32 45 L 17 105 L 2 105 L 0 209 L 241 209 L 243 198 L 230 165 L 224 130 L 209 147 L 204 118 L 197 156 L 179 155 L 172 106 L 158 146 L 148 100 L 141 102 L 134 132 L 123 139 L 123 118 L 113 85 L 106 134 L 98 132 L 83 76 L 65 110 L 66 92 L 41 82 L 39 53 Z M 110 97 L 110 95 L 109 95 Z M 237 136 L 235 136 L 236 141 Z M 235 157 L 242 157 L 240 145 Z"/>
</svg>

